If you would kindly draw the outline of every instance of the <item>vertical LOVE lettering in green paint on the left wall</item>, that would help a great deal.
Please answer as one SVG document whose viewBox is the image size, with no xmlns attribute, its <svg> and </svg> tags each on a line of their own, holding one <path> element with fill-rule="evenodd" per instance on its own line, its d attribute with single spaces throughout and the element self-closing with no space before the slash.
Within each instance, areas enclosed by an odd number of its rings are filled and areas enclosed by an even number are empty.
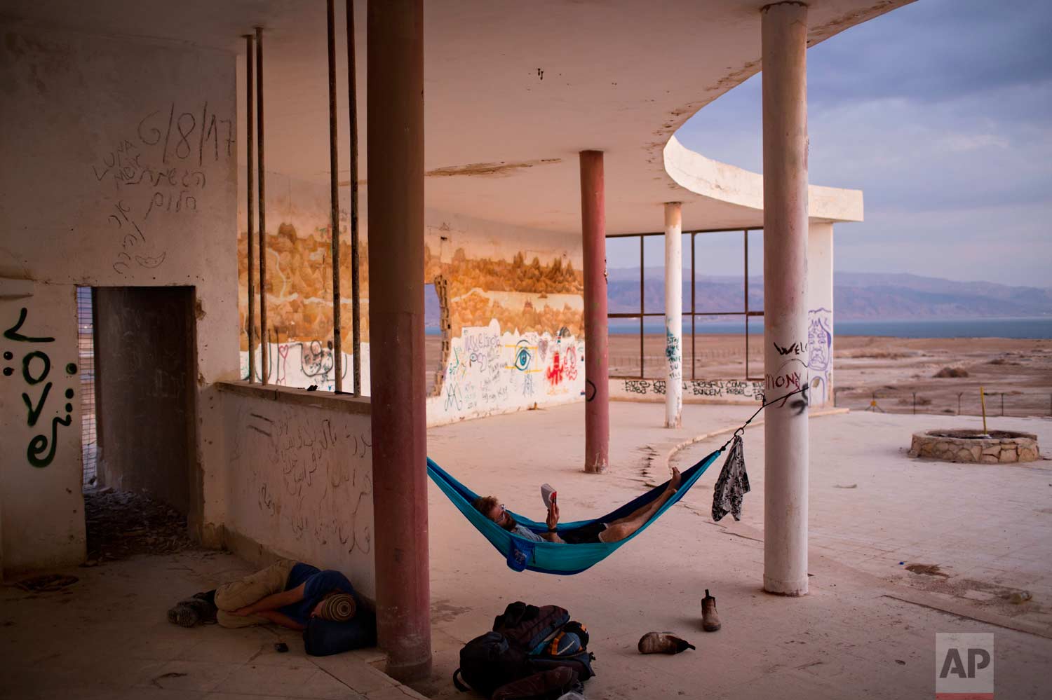
<svg viewBox="0 0 1052 700">
<path fill-rule="evenodd" d="M 73 424 L 73 398 L 76 395 L 73 384 L 77 365 L 67 363 L 61 378 L 57 376 L 59 372 L 53 373 L 48 350 L 54 347 L 50 344 L 55 343 L 55 338 L 33 334 L 26 326 L 27 317 L 28 310 L 22 307 L 18 320 L 3 332 L 3 345 L 6 346 L 3 350 L 3 376 L 15 380 L 16 370 L 18 371 L 24 385 L 22 403 L 26 411 L 26 425 L 42 431 L 29 440 L 25 457 L 34 467 L 47 467 L 55 459 L 58 449 L 59 426 L 68 428 Z M 63 380 L 70 385 L 63 392 L 65 404 L 62 404 L 62 399 L 48 404 L 48 398 L 53 398 L 55 383 Z M 56 411 L 58 415 L 53 416 Z"/>
</svg>

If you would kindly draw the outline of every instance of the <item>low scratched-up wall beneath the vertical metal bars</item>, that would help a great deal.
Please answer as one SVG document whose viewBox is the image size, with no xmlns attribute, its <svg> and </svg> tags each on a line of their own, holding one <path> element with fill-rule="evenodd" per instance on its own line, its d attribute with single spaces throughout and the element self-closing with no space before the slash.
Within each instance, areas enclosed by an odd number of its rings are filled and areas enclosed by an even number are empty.
<svg viewBox="0 0 1052 700">
<path fill-rule="evenodd" d="M 226 543 L 344 572 L 375 598 L 368 399 L 224 386 Z M 238 393 L 235 393 L 238 392 Z M 296 403 L 290 403 L 296 402 Z"/>
</svg>

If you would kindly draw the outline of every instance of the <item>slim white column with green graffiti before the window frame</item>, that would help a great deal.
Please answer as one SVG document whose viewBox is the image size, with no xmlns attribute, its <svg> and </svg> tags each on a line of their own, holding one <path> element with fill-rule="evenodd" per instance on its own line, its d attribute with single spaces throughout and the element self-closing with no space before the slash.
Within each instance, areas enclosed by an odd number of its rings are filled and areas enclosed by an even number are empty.
<svg viewBox="0 0 1052 700">
<path fill-rule="evenodd" d="M 683 425 L 683 207 L 665 203 L 665 427 Z"/>
</svg>

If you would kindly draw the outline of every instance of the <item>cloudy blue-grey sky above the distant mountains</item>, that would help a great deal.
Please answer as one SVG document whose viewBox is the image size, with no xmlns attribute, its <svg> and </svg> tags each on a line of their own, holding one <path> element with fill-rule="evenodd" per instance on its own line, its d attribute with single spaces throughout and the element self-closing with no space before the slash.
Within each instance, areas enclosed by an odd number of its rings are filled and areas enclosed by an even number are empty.
<svg viewBox="0 0 1052 700">
<path fill-rule="evenodd" d="M 1052 3 L 920 0 L 812 47 L 808 128 L 810 181 L 865 190 L 836 270 L 1052 287 Z M 761 133 L 755 76 L 677 136 L 760 171 Z"/>
</svg>

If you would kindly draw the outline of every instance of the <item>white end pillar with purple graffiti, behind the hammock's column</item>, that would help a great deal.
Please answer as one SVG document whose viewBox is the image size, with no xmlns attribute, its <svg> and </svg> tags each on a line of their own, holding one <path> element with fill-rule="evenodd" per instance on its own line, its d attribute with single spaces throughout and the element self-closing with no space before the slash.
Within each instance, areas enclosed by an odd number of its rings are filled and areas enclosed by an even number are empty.
<svg viewBox="0 0 1052 700">
<path fill-rule="evenodd" d="M 807 371 L 811 407 L 833 405 L 833 225 L 807 233 Z"/>
</svg>

